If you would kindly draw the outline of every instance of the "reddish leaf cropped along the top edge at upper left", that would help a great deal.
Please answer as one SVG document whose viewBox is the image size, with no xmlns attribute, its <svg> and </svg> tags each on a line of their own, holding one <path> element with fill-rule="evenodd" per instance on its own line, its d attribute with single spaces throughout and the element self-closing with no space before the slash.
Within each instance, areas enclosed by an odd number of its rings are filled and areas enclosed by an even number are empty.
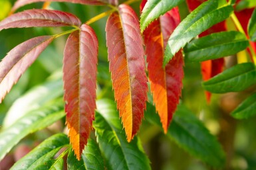
<svg viewBox="0 0 256 170">
<path fill-rule="evenodd" d="M 17 0 L 15 4 L 13 5 L 12 11 L 16 11 L 20 7 L 23 7 L 24 5 L 28 5 L 31 3 L 37 3 L 37 2 L 67 2 L 67 3 L 80 3 L 84 5 L 104 5 L 104 3 L 100 0 Z"/>
</svg>

